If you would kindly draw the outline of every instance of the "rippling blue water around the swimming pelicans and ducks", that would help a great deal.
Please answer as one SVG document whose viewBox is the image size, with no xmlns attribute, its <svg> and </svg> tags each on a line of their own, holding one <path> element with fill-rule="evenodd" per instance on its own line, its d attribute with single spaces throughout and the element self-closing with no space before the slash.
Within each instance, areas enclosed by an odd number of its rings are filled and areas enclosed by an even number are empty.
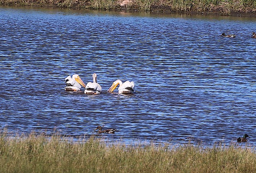
<svg viewBox="0 0 256 173">
<path fill-rule="evenodd" d="M 256 18 L 0 7 L 0 124 L 105 139 L 255 146 Z M 236 38 L 220 34 L 237 34 Z M 100 95 L 65 92 L 79 74 Z M 133 95 L 108 93 L 116 79 Z"/>
</svg>

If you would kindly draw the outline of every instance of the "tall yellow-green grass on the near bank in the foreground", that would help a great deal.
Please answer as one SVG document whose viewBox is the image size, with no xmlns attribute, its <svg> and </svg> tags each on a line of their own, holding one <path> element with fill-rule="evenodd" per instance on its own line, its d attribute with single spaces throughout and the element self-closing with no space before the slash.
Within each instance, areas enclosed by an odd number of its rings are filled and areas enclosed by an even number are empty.
<svg viewBox="0 0 256 173">
<path fill-rule="evenodd" d="M 107 144 L 53 135 L 0 136 L 0 172 L 256 172 L 252 148 Z"/>
</svg>

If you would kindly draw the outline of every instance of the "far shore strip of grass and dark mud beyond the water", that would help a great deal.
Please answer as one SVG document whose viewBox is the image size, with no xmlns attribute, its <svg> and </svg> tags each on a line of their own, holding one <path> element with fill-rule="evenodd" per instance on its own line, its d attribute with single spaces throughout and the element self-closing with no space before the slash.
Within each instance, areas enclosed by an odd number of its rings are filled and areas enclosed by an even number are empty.
<svg viewBox="0 0 256 173">
<path fill-rule="evenodd" d="M 254 16 L 255 0 L 0 0 L 0 5 Z"/>
</svg>

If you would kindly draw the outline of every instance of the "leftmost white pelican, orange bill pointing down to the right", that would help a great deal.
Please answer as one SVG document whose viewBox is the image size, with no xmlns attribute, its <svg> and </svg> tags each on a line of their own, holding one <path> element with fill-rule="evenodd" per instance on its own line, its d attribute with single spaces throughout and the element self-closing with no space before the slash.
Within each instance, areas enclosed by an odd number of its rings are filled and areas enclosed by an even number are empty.
<svg viewBox="0 0 256 173">
<path fill-rule="evenodd" d="M 65 91 L 80 91 L 81 85 L 85 87 L 84 82 L 78 76 L 78 74 L 73 74 L 72 78 L 70 75 L 66 77 L 65 83 L 66 83 Z"/>
</svg>

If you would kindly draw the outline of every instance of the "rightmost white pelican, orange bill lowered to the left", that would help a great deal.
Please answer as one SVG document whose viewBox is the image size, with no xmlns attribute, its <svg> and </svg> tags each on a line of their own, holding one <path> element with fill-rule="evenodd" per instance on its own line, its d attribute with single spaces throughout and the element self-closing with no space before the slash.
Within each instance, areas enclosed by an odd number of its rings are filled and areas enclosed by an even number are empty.
<svg viewBox="0 0 256 173">
<path fill-rule="evenodd" d="M 113 82 L 112 86 L 109 88 L 108 92 L 113 92 L 114 89 L 118 86 L 119 94 L 133 94 L 134 92 L 134 82 L 126 81 L 122 83 L 120 80 Z"/>
</svg>

